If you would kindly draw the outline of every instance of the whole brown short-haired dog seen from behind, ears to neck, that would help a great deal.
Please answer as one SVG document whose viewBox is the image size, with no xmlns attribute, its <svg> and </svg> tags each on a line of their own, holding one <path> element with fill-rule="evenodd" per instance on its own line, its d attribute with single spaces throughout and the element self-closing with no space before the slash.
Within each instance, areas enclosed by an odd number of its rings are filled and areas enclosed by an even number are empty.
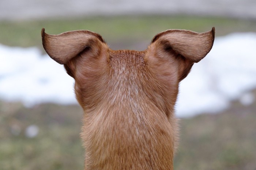
<svg viewBox="0 0 256 170">
<path fill-rule="evenodd" d="M 167 30 L 145 51 L 113 51 L 94 32 L 42 29 L 45 51 L 75 79 L 84 169 L 173 169 L 178 84 L 211 50 L 214 32 Z"/>
</svg>

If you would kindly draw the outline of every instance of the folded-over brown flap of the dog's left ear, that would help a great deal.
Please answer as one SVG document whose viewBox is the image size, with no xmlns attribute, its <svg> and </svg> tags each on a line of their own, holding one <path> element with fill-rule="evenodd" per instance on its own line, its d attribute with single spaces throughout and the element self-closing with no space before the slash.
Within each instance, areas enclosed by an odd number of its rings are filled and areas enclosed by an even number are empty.
<svg viewBox="0 0 256 170">
<path fill-rule="evenodd" d="M 102 44 L 106 44 L 99 34 L 87 30 L 49 35 L 42 28 L 41 35 L 45 51 L 60 64 L 66 64 L 70 59 L 84 51 L 98 54 Z"/>
</svg>

